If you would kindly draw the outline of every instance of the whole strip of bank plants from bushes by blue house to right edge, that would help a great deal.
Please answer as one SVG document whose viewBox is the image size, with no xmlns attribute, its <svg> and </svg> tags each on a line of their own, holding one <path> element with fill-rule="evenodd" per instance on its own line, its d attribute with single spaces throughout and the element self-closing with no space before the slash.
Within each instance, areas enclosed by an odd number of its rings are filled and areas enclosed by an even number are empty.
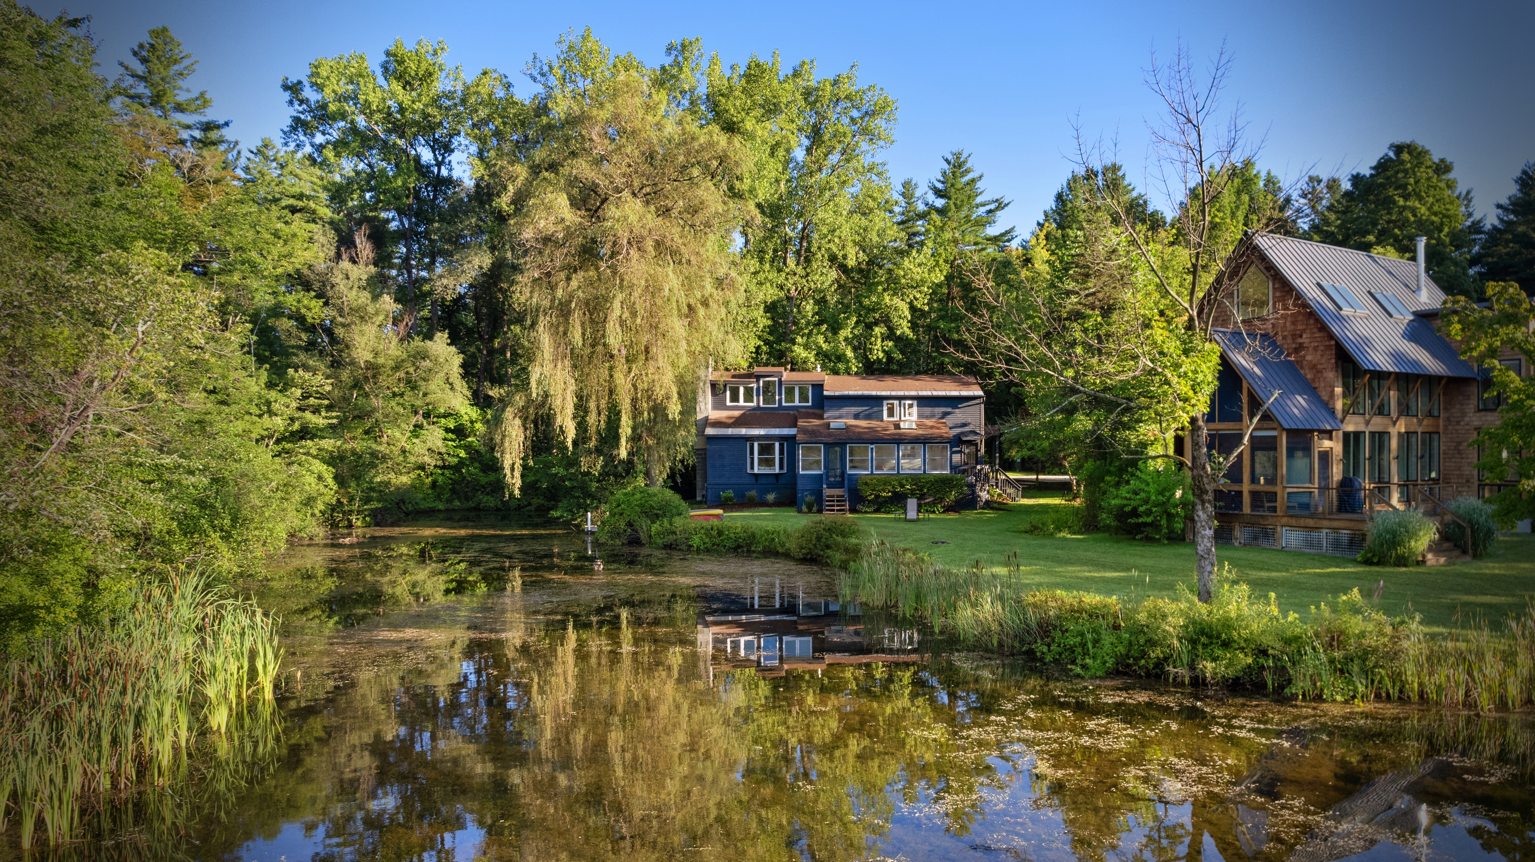
<svg viewBox="0 0 1535 862">
<path fill-rule="evenodd" d="M 844 601 L 930 626 L 959 646 L 1032 658 L 1070 676 L 1125 673 L 1303 699 L 1397 699 L 1483 712 L 1535 706 L 1535 603 L 1529 600 L 1523 612 L 1501 621 L 1475 615 L 1458 618 L 1448 632 L 1431 632 L 1420 614 L 1380 610 L 1383 580 L 1371 597 L 1358 587 L 1340 591 L 1302 617 L 1282 612 L 1274 594 L 1254 594 L 1230 563 L 1208 604 L 1182 584 L 1171 597 L 1041 589 L 1024 577 L 1016 551 L 1001 571 L 979 560 L 969 569 L 953 568 L 878 538 L 855 517 L 804 517 L 794 526 L 694 521 L 686 503 L 665 489 L 634 489 L 614 500 L 599 540 L 820 560 L 844 569 Z M 1019 532 L 1030 534 L 1033 523 Z"/>
</svg>

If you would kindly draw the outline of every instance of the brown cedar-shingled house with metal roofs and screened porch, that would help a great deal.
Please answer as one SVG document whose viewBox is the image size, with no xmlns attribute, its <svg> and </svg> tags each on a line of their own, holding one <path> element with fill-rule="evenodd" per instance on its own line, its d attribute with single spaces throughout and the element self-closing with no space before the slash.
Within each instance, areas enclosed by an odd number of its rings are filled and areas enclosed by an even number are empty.
<svg viewBox="0 0 1535 862">
<path fill-rule="evenodd" d="M 1210 446 L 1233 451 L 1280 394 L 1222 477 L 1217 541 L 1352 554 L 1372 509 L 1500 488 L 1469 448 L 1497 399 L 1438 333 L 1444 293 L 1420 262 L 1251 233 L 1233 271 Z"/>
</svg>

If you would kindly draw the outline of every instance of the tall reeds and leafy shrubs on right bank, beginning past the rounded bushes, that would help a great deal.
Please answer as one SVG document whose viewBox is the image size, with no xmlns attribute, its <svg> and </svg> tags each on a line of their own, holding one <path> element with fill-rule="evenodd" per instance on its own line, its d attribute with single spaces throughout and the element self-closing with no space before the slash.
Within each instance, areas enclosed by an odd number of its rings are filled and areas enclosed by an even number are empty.
<svg viewBox="0 0 1535 862">
<path fill-rule="evenodd" d="M 1110 597 L 1038 591 L 1016 558 L 999 574 L 933 563 L 878 543 L 852 564 L 843 600 L 921 620 L 962 646 L 1030 655 L 1076 676 L 1136 673 L 1246 684 L 1326 701 L 1406 699 L 1495 710 L 1535 704 L 1535 604 L 1501 626 L 1448 635 L 1389 618 L 1358 591 L 1280 614 L 1223 574 L 1216 597 Z"/>
</svg>

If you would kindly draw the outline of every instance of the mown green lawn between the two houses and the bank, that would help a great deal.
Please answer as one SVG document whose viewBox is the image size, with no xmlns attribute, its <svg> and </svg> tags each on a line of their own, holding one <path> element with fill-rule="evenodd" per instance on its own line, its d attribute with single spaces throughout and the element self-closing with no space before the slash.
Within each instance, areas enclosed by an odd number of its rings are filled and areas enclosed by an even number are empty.
<svg viewBox="0 0 1535 862">
<path fill-rule="evenodd" d="M 1024 578 L 1044 589 L 1093 591 L 1108 595 L 1173 595 L 1179 583 L 1194 586 L 1194 546 L 1148 545 L 1116 535 L 1044 538 L 1021 532 L 1028 509 L 1051 505 L 1048 498 L 1024 500 L 984 512 L 932 515 L 906 523 L 893 515 L 855 514 L 880 538 L 932 554 L 933 560 L 989 571 L 1004 571 L 1018 554 Z M 795 526 L 812 515 L 794 509 L 731 512 L 731 520 Z M 947 545 L 933 545 L 935 540 Z M 1371 595 L 1385 580 L 1382 610 L 1417 610 L 1432 627 L 1454 626 L 1458 612 L 1501 620 L 1520 612 L 1535 597 L 1535 538 L 1506 535 L 1481 560 L 1452 566 L 1394 569 L 1365 566 L 1342 557 L 1271 551 L 1266 548 L 1217 546 L 1220 566 L 1230 563 L 1236 580 L 1257 594 L 1276 594 L 1282 610 L 1297 610 L 1360 587 Z"/>
</svg>

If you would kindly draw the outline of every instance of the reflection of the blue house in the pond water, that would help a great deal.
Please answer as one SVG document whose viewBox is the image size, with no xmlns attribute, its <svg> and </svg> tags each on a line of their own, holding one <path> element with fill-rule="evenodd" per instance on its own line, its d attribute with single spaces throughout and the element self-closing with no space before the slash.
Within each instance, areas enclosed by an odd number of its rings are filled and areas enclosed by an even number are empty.
<svg viewBox="0 0 1535 862">
<path fill-rule="evenodd" d="M 806 595 L 804 584 L 786 589 L 783 578 L 748 578 L 740 609 L 698 615 L 698 650 L 714 672 L 755 667 L 781 675 L 786 667 L 921 661 L 915 629 L 866 632 L 857 604 Z"/>
</svg>

